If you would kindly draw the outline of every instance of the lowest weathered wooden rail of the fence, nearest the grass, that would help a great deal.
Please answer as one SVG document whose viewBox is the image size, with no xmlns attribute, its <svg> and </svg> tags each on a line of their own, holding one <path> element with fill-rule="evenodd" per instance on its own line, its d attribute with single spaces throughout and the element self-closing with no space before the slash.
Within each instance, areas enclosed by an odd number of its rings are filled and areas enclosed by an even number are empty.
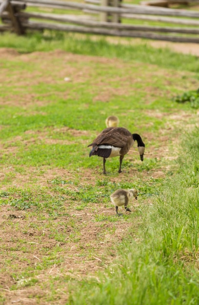
<svg viewBox="0 0 199 305">
<path fill-rule="evenodd" d="M 88 28 L 83 26 L 73 26 L 73 25 L 63 25 L 63 24 L 52 24 L 52 23 L 37 23 L 37 22 L 28 22 L 23 23 L 25 28 L 29 29 L 50 29 L 50 30 L 61 30 L 66 32 L 77 32 L 77 33 L 90 33 L 96 35 L 109 35 L 109 36 L 119 36 L 119 37 L 133 37 L 133 38 L 148 38 L 155 40 L 166 40 L 166 41 L 175 41 L 175 42 L 193 42 L 199 43 L 199 38 L 194 37 L 180 37 L 180 36 L 169 36 L 169 35 L 160 35 L 154 33 L 143 33 L 143 32 L 134 32 L 134 31 L 119 31 L 119 30 L 110 30 L 110 29 L 99 29 L 99 28 Z"/>
</svg>

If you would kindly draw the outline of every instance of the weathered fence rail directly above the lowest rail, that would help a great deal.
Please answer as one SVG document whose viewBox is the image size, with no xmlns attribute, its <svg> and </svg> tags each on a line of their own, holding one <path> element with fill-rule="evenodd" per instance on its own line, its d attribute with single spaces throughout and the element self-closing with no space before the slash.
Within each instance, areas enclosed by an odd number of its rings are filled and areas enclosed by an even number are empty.
<svg viewBox="0 0 199 305">
<path fill-rule="evenodd" d="M 135 25 L 135 24 L 122 24 L 118 22 L 100 22 L 89 19 L 81 19 L 78 17 L 71 17 L 68 15 L 50 14 L 50 13 L 26 13 L 20 12 L 18 14 L 23 18 L 39 18 L 39 19 L 49 19 L 54 21 L 70 22 L 79 25 L 85 25 L 89 27 L 98 28 L 109 28 L 109 29 L 119 29 L 119 30 L 132 30 L 132 31 L 148 31 L 148 32 L 162 32 L 162 33 L 182 33 L 182 34 L 199 34 L 199 28 L 183 28 L 183 27 L 161 27 L 161 26 L 150 26 L 150 25 Z"/>
</svg>

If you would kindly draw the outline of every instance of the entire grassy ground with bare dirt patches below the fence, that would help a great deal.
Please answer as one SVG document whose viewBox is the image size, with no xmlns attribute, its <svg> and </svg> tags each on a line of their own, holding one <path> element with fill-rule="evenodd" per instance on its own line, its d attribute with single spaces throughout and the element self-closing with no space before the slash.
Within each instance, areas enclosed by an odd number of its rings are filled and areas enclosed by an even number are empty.
<svg viewBox="0 0 199 305">
<path fill-rule="evenodd" d="M 1 38 L 21 55 L 0 58 L 0 302 L 23 290 L 39 304 L 197 305 L 198 116 L 172 98 L 198 88 L 196 57 L 55 32 Z M 121 175 L 107 160 L 104 176 L 87 145 L 109 114 L 146 154 L 129 152 Z M 139 205 L 117 217 L 110 194 L 133 187 Z"/>
</svg>

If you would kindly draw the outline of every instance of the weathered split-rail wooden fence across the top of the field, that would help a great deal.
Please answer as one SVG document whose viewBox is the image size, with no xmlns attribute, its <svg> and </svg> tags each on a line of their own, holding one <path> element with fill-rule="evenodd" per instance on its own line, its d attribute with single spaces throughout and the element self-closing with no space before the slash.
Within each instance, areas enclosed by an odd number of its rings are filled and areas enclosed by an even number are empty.
<svg viewBox="0 0 199 305">
<path fill-rule="evenodd" d="M 199 43 L 199 11 L 124 4 L 121 0 L 86 0 L 86 2 L 0 0 L 2 19 L 0 31 L 11 30 L 23 35 L 28 29 L 49 29 Z M 30 6 L 39 7 L 41 10 L 44 8 L 44 11 L 46 8 L 60 9 L 60 14 L 28 11 Z M 70 13 L 74 11 L 74 15 L 69 15 L 69 11 Z M 77 11 L 81 14 L 77 15 Z M 140 21 L 138 24 L 128 24 L 125 23 L 127 19 Z M 142 20 L 156 21 L 160 25 L 139 24 L 143 22 Z M 162 26 L 161 22 L 173 26 Z"/>
</svg>

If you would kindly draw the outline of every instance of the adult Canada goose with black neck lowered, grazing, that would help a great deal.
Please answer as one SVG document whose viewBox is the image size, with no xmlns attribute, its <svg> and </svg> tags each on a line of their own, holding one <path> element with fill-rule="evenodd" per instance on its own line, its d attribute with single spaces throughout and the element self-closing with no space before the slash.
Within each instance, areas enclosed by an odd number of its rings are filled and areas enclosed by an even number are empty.
<svg viewBox="0 0 199 305">
<path fill-rule="evenodd" d="M 92 149 L 89 157 L 98 155 L 103 158 L 103 173 L 106 174 L 105 162 L 108 157 L 119 156 L 119 171 L 121 172 L 121 163 L 124 155 L 130 150 L 134 142 L 138 142 L 140 159 L 143 161 L 145 145 L 138 133 L 130 133 L 123 127 L 109 127 L 104 129 L 93 143 L 89 144 Z"/>
</svg>

